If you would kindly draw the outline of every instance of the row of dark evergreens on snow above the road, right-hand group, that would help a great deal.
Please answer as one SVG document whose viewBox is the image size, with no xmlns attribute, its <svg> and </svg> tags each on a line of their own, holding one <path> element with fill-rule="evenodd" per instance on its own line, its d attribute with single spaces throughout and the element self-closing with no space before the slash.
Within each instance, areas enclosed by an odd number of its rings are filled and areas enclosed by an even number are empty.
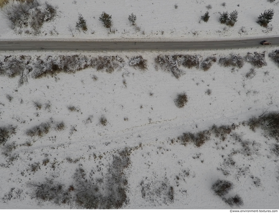
<svg viewBox="0 0 279 213">
<path fill-rule="evenodd" d="M 259 15 L 257 23 L 259 23 L 261 26 L 266 27 L 267 24 L 272 20 L 273 15 L 274 15 L 273 9 L 265 10 L 263 13 L 261 13 L 261 15 Z M 228 12 L 221 13 L 219 20 L 222 24 L 233 26 L 235 22 L 237 22 L 237 17 L 238 17 L 238 12 L 234 10 L 230 14 Z M 205 14 L 201 16 L 201 19 L 204 22 L 207 22 L 209 18 L 210 15 L 208 11 L 206 11 Z"/>
</svg>

